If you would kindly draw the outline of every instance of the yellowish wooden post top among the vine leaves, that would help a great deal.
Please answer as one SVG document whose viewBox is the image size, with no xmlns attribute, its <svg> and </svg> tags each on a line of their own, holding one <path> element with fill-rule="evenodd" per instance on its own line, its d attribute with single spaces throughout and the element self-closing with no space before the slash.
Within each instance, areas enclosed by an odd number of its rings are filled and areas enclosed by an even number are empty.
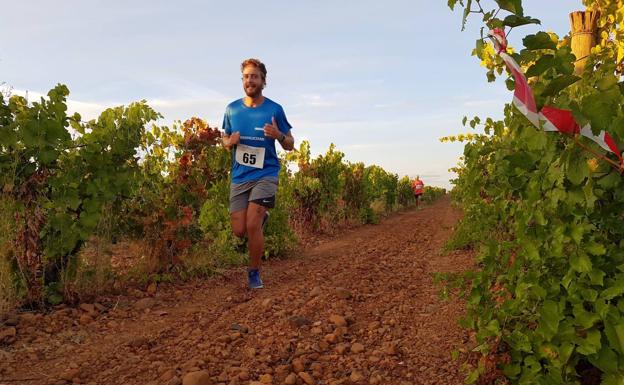
<svg viewBox="0 0 624 385">
<path fill-rule="evenodd" d="M 596 45 L 598 30 L 598 18 L 600 11 L 587 10 L 572 12 L 570 23 L 572 24 L 572 53 L 576 56 L 574 73 L 581 75 L 587 63 L 589 53 Z"/>
</svg>

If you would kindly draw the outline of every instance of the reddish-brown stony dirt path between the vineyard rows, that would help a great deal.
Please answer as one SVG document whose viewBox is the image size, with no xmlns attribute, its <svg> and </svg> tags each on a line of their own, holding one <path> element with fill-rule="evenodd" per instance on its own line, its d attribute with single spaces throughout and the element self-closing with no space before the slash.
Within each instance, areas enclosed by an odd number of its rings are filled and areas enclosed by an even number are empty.
<svg viewBox="0 0 624 385">
<path fill-rule="evenodd" d="M 461 384 L 462 304 L 439 300 L 431 278 L 471 265 L 440 252 L 458 218 L 443 199 L 349 230 L 266 263 L 260 291 L 236 269 L 22 316 L 0 345 L 0 384 L 173 385 L 190 372 L 211 378 L 185 385 Z"/>
</svg>

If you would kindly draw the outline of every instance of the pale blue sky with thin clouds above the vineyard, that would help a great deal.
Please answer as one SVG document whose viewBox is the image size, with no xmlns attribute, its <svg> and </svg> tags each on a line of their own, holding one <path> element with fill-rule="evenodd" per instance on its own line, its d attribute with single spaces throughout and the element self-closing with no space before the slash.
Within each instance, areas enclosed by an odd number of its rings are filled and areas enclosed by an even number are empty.
<svg viewBox="0 0 624 385">
<path fill-rule="evenodd" d="M 493 1 L 483 0 L 487 7 Z M 541 26 L 563 36 L 580 0 L 524 0 Z M 459 8 L 459 7 L 458 7 Z M 244 96 L 240 63 L 262 60 L 264 95 L 280 103 L 295 145 L 330 143 L 350 162 L 450 187 L 471 132 L 464 116 L 502 117 L 512 94 L 488 83 L 471 51 L 478 16 L 461 31 L 447 0 L 0 0 L 0 83 L 37 99 L 63 83 L 84 120 L 147 100 L 159 124 L 198 116 L 220 127 Z"/>
</svg>

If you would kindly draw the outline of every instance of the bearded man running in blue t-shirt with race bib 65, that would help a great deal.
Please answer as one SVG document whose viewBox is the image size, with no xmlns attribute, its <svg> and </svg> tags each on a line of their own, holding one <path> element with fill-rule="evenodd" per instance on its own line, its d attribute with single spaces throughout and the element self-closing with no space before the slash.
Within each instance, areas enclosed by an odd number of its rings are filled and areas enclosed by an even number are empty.
<svg viewBox="0 0 624 385">
<path fill-rule="evenodd" d="M 249 287 L 263 287 L 260 261 L 264 253 L 263 225 L 268 209 L 275 207 L 279 159 L 277 140 L 284 150 L 293 149 L 292 126 L 279 104 L 262 95 L 267 70 L 258 59 L 241 64 L 245 97 L 230 103 L 223 118 L 223 145 L 233 149 L 230 185 L 230 219 L 238 237 L 249 246 Z"/>
</svg>

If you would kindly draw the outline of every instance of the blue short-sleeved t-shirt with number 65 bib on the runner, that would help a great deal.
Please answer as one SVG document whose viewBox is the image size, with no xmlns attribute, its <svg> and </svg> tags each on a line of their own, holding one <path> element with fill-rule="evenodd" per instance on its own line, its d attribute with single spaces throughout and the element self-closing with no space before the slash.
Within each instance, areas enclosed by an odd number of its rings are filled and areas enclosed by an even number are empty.
<svg viewBox="0 0 624 385">
<path fill-rule="evenodd" d="M 238 99 L 225 109 L 223 130 L 227 135 L 240 132 L 242 145 L 232 151 L 233 183 L 277 178 L 280 164 L 275 139 L 264 136 L 264 125 L 271 124 L 273 117 L 280 132 L 286 135 L 292 126 L 286 119 L 284 109 L 267 97 L 257 107 L 247 107 L 243 99 Z M 262 158 L 264 162 L 257 162 Z"/>
</svg>

